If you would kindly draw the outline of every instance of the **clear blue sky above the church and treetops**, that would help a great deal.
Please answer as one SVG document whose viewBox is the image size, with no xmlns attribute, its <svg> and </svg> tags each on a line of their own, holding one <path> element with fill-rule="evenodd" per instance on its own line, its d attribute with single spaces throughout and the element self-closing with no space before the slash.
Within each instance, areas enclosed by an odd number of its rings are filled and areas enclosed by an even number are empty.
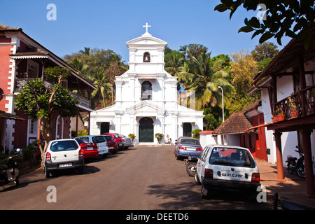
<svg viewBox="0 0 315 224">
<path fill-rule="evenodd" d="M 49 3 L 57 8 L 57 20 L 47 20 Z M 199 43 L 211 57 L 242 49 L 251 52 L 259 37 L 238 33 L 244 19 L 255 16 L 239 8 L 230 20 L 229 12 L 214 8 L 219 0 L 0 0 L 0 23 L 20 27 L 26 34 L 59 57 L 84 47 L 111 49 L 129 61 L 126 42 L 148 31 L 179 50 Z M 275 39 L 269 41 L 276 43 Z M 283 48 L 290 41 L 283 38 Z"/>
</svg>

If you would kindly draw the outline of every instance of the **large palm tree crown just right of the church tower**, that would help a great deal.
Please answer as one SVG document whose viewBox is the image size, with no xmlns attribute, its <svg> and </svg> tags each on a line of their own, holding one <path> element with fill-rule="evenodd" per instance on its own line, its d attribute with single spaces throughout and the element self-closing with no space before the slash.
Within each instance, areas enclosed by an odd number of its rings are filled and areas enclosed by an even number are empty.
<svg viewBox="0 0 315 224">
<path fill-rule="evenodd" d="M 191 64 L 183 66 L 184 69 L 179 73 L 179 77 L 184 83 L 185 90 L 195 91 L 196 109 L 199 110 L 209 104 L 215 106 L 218 102 L 220 104 L 222 95 L 218 86 L 223 87 L 226 93 L 233 90 L 232 85 L 227 80 L 227 69 L 220 69 L 221 66 L 219 65 L 223 63 L 223 60 L 216 61 L 211 66 L 210 55 L 202 52 L 199 60 L 192 57 L 191 62 Z M 230 102 L 226 94 L 224 101 L 226 104 Z"/>
</svg>

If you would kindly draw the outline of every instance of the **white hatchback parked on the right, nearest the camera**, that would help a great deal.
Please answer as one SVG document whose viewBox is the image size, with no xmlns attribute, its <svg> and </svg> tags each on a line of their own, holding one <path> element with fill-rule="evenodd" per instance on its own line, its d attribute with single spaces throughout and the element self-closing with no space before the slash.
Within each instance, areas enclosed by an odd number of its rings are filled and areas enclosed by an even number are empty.
<svg viewBox="0 0 315 224">
<path fill-rule="evenodd" d="M 247 148 L 209 145 L 198 158 L 195 183 L 201 184 L 203 198 L 212 190 L 245 190 L 257 195 L 260 174 Z"/>
</svg>

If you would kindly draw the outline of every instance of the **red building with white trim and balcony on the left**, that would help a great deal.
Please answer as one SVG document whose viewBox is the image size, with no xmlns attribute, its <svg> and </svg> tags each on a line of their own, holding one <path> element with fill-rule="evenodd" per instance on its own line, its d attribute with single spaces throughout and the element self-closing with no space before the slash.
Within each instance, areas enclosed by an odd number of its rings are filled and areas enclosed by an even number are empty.
<svg viewBox="0 0 315 224">
<path fill-rule="evenodd" d="M 71 95 L 80 102 L 80 111 L 90 113 L 90 93 L 95 89 L 78 71 L 66 64 L 50 50 L 29 37 L 21 28 L 7 27 L 0 24 L 0 110 L 12 113 L 25 120 L 5 119 L 1 121 L 0 146 L 3 151 L 23 148 L 38 139 L 38 121 L 27 119 L 22 111 L 15 109 L 14 99 L 18 95 L 25 78 L 45 80 L 43 71 L 47 67 L 61 66 L 71 69 L 71 77 L 64 83 Z M 76 119 L 78 120 L 78 119 Z M 59 114 L 52 120 L 52 139 L 64 139 L 71 136 L 71 119 Z"/>
</svg>

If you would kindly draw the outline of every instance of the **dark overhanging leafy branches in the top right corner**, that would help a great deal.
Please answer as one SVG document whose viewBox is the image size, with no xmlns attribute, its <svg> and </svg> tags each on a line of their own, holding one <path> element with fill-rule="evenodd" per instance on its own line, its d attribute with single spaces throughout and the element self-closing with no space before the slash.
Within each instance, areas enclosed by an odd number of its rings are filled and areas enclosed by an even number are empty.
<svg viewBox="0 0 315 224">
<path fill-rule="evenodd" d="M 304 41 L 304 48 L 315 46 L 314 27 L 315 27 L 315 3 L 314 1 L 304 0 L 221 0 L 214 10 L 224 12 L 230 10 L 230 19 L 239 6 L 246 10 L 257 10 L 258 5 L 265 9 L 265 18 L 258 20 L 256 17 L 245 19 L 245 26 L 239 32 L 251 32 L 253 36 L 261 35 L 259 43 L 267 41 L 269 38 L 276 38 L 281 45 L 283 36 L 297 38 Z"/>
</svg>

